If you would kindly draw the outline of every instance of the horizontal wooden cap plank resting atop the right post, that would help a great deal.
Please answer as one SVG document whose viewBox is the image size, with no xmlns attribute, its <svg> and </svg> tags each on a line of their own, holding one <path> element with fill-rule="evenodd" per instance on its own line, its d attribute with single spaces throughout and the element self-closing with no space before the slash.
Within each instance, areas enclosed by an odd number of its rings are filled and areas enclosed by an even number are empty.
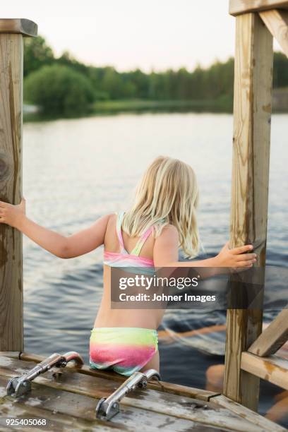
<svg viewBox="0 0 288 432">
<path fill-rule="evenodd" d="M 239 15 L 240 13 L 268 11 L 268 9 L 288 9 L 287 0 L 230 0 L 229 13 Z"/>
</svg>

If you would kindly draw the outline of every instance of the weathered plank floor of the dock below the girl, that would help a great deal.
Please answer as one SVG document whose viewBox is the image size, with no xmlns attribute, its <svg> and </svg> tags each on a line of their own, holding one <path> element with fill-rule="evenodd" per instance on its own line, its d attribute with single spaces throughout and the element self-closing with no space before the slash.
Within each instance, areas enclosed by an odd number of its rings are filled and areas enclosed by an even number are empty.
<svg viewBox="0 0 288 432">
<path fill-rule="evenodd" d="M 120 402 L 119 414 L 110 421 L 99 420 L 97 402 L 114 392 L 124 378 L 85 365 L 52 368 L 32 381 L 27 395 L 6 396 L 8 380 L 42 360 L 31 354 L 1 353 L 0 417 L 46 419 L 47 426 L 37 429 L 41 431 L 286 431 L 227 397 L 162 381 L 134 390 Z M 0 431 L 9 430 L 15 428 L 0 426 Z M 35 426 L 23 430 L 35 431 Z"/>
</svg>

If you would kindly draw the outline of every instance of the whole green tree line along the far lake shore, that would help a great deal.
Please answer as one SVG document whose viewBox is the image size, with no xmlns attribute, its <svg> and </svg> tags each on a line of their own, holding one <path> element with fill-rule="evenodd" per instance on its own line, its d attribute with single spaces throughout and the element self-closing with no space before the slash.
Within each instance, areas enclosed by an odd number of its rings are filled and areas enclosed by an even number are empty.
<svg viewBox="0 0 288 432">
<path fill-rule="evenodd" d="M 83 64 L 69 52 L 56 58 L 44 38 L 37 37 L 25 40 L 24 77 L 25 101 L 46 114 L 83 114 L 94 102 L 109 100 L 218 101 L 231 109 L 234 59 L 194 71 L 120 73 L 112 66 Z M 288 61 L 280 52 L 274 54 L 273 85 L 288 87 Z"/>
</svg>

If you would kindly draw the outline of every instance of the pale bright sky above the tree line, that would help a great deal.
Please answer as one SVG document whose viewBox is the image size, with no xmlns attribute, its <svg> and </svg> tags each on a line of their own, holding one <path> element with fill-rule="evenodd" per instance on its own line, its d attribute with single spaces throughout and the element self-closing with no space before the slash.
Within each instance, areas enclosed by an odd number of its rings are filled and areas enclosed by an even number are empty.
<svg viewBox="0 0 288 432">
<path fill-rule="evenodd" d="M 28 18 L 56 56 L 119 71 L 163 71 L 234 55 L 228 0 L 11 0 L 1 18 Z"/>
</svg>

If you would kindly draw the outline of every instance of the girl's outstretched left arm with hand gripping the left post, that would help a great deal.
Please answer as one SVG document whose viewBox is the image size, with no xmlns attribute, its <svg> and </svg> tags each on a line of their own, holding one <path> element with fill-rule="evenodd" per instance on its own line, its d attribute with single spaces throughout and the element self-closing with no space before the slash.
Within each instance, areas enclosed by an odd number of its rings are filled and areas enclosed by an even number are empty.
<svg viewBox="0 0 288 432">
<path fill-rule="evenodd" d="M 59 258 L 75 258 L 103 244 L 109 216 L 100 217 L 90 227 L 66 237 L 28 219 L 25 215 L 25 199 L 18 205 L 0 201 L 0 223 L 18 229 Z"/>
</svg>

